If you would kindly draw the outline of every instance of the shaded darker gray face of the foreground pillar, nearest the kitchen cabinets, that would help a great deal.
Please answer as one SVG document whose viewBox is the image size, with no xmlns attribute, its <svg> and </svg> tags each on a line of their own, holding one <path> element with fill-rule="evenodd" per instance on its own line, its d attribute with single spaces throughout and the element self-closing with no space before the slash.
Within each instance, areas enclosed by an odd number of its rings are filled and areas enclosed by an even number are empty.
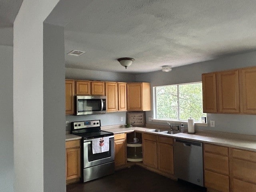
<svg viewBox="0 0 256 192">
<path fill-rule="evenodd" d="M 44 191 L 66 190 L 64 28 L 44 24 Z M 60 123 L 61 122 L 61 123 Z M 57 157 L 57 158 L 56 158 Z"/>
</svg>

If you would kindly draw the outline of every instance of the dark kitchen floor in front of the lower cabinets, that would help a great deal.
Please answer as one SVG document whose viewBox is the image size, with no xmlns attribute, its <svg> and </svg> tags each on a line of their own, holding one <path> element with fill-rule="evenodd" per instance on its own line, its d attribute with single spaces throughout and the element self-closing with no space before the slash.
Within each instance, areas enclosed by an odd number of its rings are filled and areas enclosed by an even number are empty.
<svg viewBox="0 0 256 192">
<path fill-rule="evenodd" d="M 205 188 L 174 181 L 139 166 L 116 171 L 110 176 L 67 185 L 67 192 L 205 192 Z"/>
</svg>

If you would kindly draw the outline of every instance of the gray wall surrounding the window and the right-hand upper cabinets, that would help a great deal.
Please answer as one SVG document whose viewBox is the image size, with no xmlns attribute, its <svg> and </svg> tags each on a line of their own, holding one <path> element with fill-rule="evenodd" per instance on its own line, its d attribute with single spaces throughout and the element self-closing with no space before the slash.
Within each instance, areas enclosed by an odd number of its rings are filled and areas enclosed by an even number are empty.
<svg viewBox="0 0 256 192">
<path fill-rule="evenodd" d="M 153 86 L 161 85 L 201 82 L 202 73 L 243 68 L 248 66 L 256 66 L 256 52 L 228 56 L 226 58 L 180 66 L 172 68 L 172 71 L 168 73 L 158 71 L 146 74 L 139 74 L 136 75 L 136 81 L 150 82 L 151 88 Z M 146 123 L 163 124 L 148 122 L 148 117 L 153 117 L 153 110 L 151 110 L 150 112 L 146 112 Z M 196 126 L 195 128 L 202 130 L 214 130 L 221 132 L 256 135 L 255 115 L 207 114 L 207 120 L 208 122 L 210 122 L 210 120 L 215 120 L 215 127 L 210 127 L 208 123 L 208 127 Z"/>
</svg>

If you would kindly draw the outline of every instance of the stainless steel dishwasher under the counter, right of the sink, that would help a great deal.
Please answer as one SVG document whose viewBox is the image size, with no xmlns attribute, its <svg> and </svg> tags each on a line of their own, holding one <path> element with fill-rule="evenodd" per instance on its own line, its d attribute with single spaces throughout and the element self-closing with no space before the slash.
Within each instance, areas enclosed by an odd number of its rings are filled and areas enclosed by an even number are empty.
<svg viewBox="0 0 256 192">
<path fill-rule="evenodd" d="M 204 186 L 203 144 L 174 139 L 174 175 L 177 178 Z"/>
</svg>

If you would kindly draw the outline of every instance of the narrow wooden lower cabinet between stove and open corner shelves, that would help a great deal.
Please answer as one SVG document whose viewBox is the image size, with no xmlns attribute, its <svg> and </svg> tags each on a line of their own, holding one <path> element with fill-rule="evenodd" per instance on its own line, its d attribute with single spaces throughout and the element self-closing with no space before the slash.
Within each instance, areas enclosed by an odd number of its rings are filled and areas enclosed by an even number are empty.
<svg viewBox="0 0 256 192">
<path fill-rule="evenodd" d="M 126 164 L 126 135 L 124 133 L 114 135 L 115 168 Z"/>
</svg>

